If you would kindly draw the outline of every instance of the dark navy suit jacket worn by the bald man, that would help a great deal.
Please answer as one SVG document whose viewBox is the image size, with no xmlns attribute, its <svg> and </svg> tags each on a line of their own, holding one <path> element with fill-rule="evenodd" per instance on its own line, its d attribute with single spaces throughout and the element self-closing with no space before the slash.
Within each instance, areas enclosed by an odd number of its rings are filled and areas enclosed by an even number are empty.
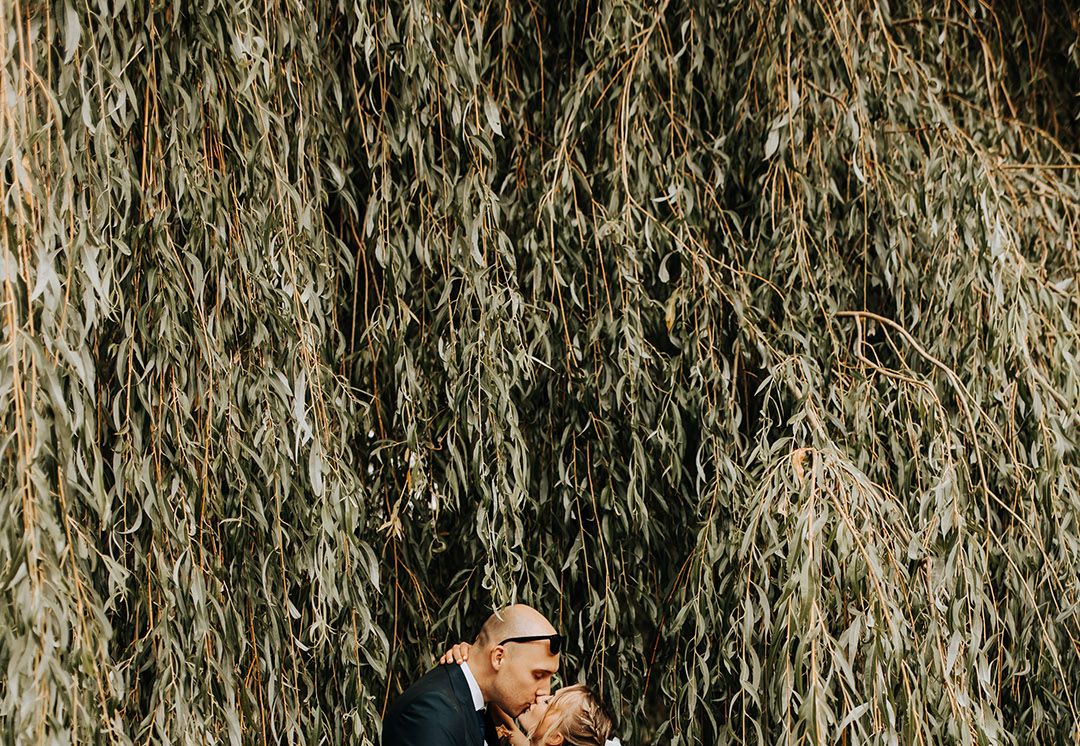
<svg viewBox="0 0 1080 746">
<path fill-rule="evenodd" d="M 397 697 L 382 721 L 382 746 L 484 746 L 461 666 L 436 666 Z"/>
</svg>

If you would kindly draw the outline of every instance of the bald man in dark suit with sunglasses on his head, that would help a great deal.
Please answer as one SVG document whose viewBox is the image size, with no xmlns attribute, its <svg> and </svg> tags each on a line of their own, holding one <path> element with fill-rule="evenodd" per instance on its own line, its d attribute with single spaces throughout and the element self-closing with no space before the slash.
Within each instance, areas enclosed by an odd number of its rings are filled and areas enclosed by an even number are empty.
<svg viewBox="0 0 1080 746">
<path fill-rule="evenodd" d="M 563 638 L 543 614 L 509 606 L 491 614 L 469 660 L 436 666 L 382 721 L 382 746 L 497 746 L 487 706 L 517 717 L 551 693 Z"/>
</svg>

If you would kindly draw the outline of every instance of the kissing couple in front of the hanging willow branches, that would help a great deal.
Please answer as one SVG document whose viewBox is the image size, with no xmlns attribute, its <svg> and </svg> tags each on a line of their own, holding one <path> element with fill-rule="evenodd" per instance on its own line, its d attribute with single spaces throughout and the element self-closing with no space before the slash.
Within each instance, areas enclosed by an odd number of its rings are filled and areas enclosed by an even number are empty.
<svg viewBox="0 0 1080 746">
<path fill-rule="evenodd" d="M 562 650 L 536 609 L 496 611 L 471 646 L 455 646 L 394 701 L 382 746 L 620 746 L 589 687 L 551 696 Z"/>
</svg>

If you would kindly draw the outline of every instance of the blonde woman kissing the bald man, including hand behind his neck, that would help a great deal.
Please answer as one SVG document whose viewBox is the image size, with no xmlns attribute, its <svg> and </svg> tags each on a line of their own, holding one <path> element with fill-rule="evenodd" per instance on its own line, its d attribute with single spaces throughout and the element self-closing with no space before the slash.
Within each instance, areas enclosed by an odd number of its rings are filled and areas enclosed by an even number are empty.
<svg viewBox="0 0 1080 746">
<path fill-rule="evenodd" d="M 461 663 L 469 660 L 469 643 L 459 642 L 438 660 Z M 554 695 L 537 702 L 513 719 L 496 708 L 496 732 L 503 746 L 621 746 L 611 737 L 611 716 L 592 689 L 577 683 L 563 687 Z"/>
</svg>

